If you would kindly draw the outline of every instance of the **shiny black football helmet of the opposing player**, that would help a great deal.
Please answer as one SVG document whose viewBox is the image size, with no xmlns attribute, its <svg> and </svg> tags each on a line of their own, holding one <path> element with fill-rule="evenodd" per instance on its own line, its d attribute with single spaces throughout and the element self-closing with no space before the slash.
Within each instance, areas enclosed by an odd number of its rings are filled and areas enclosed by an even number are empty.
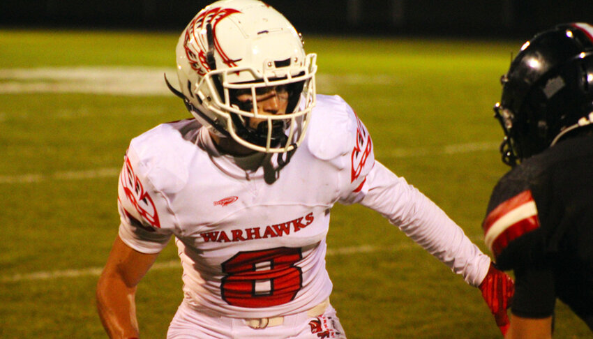
<svg viewBox="0 0 593 339">
<path fill-rule="evenodd" d="M 502 161 L 515 166 L 593 119 L 593 27 L 560 24 L 521 47 L 494 107 Z"/>
</svg>

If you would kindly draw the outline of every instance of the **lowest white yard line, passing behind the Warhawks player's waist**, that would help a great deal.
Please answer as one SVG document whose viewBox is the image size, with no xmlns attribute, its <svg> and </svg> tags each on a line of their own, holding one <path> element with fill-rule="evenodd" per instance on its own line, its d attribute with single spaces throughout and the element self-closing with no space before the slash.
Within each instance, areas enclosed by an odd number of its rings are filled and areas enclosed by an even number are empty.
<svg viewBox="0 0 593 339">
<path fill-rule="evenodd" d="M 472 236 L 470 237 L 472 241 L 477 241 L 478 239 L 482 239 L 481 236 Z M 396 246 L 382 246 L 377 247 L 373 245 L 361 245 L 361 246 L 351 246 L 351 247 L 342 247 L 342 248 L 328 248 L 327 256 L 333 257 L 334 255 L 352 255 L 352 254 L 359 254 L 359 253 L 373 253 L 373 252 L 398 252 L 401 250 L 409 250 L 411 248 L 420 248 L 418 245 L 412 242 L 401 243 Z M 170 260 L 167 262 L 157 262 L 151 268 L 152 270 L 161 270 L 161 269 L 181 269 L 181 263 L 179 260 Z M 31 272 L 31 273 L 16 273 L 12 276 L 0 276 L 0 283 L 18 283 L 21 281 L 38 281 L 38 280 L 52 280 L 57 278 L 77 278 L 77 277 L 84 277 L 84 276 L 99 276 L 101 271 L 103 270 L 102 267 L 90 267 L 87 269 L 66 269 L 61 271 L 38 271 L 38 272 Z"/>
</svg>

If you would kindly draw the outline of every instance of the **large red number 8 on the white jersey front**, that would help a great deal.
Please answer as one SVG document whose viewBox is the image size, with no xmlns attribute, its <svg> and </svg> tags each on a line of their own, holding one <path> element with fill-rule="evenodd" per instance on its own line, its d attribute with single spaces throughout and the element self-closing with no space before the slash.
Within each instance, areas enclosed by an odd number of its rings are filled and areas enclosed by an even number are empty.
<svg viewBox="0 0 593 339">
<path fill-rule="evenodd" d="M 282 305 L 294 299 L 302 287 L 301 248 L 272 248 L 239 252 L 223 263 L 220 289 L 233 306 L 260 308 Z"/>
</svg>

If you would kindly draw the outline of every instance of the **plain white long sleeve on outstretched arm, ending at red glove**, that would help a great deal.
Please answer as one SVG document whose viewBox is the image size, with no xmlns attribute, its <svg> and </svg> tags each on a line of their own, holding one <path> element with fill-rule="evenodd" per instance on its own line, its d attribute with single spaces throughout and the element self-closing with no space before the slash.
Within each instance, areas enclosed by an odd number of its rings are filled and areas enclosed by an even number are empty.
<svg viewBox="0 0 593 339">
<path fill-rule="evenodd" d="M 490 257 L 426 195 L 378 161 L 366 175 L 360 204 L 387 218 L 410 239 L 465 281 L 478 286 L 488 273 Z"/>
</svg>

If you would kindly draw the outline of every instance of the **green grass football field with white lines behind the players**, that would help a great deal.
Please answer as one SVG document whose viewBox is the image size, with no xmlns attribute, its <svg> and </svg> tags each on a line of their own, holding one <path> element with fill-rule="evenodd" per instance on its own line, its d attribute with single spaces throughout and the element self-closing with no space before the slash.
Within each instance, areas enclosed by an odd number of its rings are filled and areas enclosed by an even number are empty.
<svg viewBox="0 0 593 339">
<path fill-rule="evenodd" d="M 117 234 L 123 152 L 189 116 L 162 80 L 164 69 L 177 82 L 176 43 L 177 33 L 0 31 L 0 338 L 105 338 L 94 287 Z M 491 107 L 520 43 L 306 37 L 318 91 L 343 96 L 377 158 L 485 251 L 481 219 L 506 171 Z M 373 211 L 336 206 L 328 243 L 348 338 L 501 338 L 478 289 Z M 181 301 L 176 262 L 170 243 L 140 284 L 143 338 L 164 338 Z M 591 333 L 560 304 L 556 336 Z"/>
</svg>

